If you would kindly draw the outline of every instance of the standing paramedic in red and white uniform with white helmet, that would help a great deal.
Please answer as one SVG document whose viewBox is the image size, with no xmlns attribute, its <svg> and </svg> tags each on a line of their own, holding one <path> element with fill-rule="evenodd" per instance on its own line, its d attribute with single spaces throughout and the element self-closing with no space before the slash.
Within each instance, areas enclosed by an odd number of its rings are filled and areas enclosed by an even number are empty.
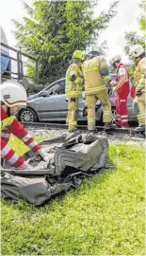
<svg viewBox="0 0 146 256">
<path fill-rule="evenodd" d="M 124 64 L 121 63 L 121 56 L 117 55 L 112 58 L 110 64 L 117 68 L 117 77 L 114 82 L 113 91 L 117 92 L 116 114 L 117 127 L 127 128 L 128 125 L 128 110 L 127 99 L 130 91 L 128 71 Z"/>
</svg>

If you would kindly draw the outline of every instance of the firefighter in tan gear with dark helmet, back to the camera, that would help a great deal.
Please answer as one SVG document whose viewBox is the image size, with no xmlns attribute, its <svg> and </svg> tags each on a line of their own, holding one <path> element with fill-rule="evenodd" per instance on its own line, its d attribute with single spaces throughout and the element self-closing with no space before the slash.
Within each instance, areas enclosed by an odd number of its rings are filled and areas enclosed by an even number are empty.
<svg viewBox="0 0 146 256">
<path fill-rule="evenodd" d="M 95 129 L 95 107 L 97 99 L 103 105 L 105 129 L 113 128 L 111 123 L 111 103 L 105 87 L 105 82 L 111 82 L 107 63 L 100 56 L 96 48 L 88 54 L 88 59 L 83 64 L 85 79 L 85 104 L 88 108 L 88 129 Z"/>
</svg>

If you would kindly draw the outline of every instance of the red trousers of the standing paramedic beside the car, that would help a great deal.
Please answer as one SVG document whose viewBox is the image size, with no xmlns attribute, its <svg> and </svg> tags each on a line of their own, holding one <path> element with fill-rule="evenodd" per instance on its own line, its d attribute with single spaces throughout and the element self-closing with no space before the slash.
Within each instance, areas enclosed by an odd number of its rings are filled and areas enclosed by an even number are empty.
<svg viewBox="0 0 146 256">
<path fill-rule="evenodd" d="M 128 110 L 127 110 L 127 98 L 129 92 L 117 92 L 116 101 L 116 115 L 117 115 L 117 126 L 128 127 Z"/>
</svg>

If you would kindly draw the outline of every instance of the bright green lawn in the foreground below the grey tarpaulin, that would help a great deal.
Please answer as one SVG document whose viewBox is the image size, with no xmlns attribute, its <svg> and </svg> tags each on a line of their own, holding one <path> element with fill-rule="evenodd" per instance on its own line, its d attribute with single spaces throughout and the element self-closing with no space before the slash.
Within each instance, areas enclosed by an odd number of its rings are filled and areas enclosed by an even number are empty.
<svg viewBox="0 0 146 256">
<path fill-rule="evenodd" d="M 144 148 L 112 144 L 108 159 L 45 207 L 2 200 L 2 254 L 144 255 Z"/>
</svg>

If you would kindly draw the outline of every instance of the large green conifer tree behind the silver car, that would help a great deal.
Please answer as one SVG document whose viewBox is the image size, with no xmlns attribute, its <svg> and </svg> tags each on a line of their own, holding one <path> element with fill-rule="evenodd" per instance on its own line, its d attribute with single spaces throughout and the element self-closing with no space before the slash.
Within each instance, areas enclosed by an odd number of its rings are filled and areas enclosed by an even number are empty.
<svg viewBox="0 0 146 256">
<path fill-rule="evenodd" d="M 41 83 L 53 82 L 65 76 L 75 49 L 85 50 L 94 44 L 109 21 L 117 13 L 118 2 L 93 18 L 97 1 L 36 0 L 30 8 L 24 3 L 28 17 L 24 23 L 13 21 L 18 44 L 39 59 Z M 105 47 L 105 44 L 104 44 Z M 27 75 L 34 75 L 32 62 L 26 65 Z"/>
</svg>

